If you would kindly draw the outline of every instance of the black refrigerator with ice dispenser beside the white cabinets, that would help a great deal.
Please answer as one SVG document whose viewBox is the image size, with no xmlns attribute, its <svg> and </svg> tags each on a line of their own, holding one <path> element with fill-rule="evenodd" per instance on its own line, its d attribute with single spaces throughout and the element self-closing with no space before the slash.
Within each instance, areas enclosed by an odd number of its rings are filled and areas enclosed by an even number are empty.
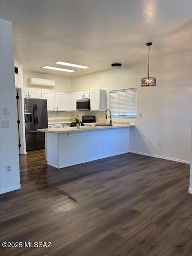
<svg viewBox="0 0 192 256">
<path fill-rule="evenodd" d="M 45 148 L 45 134 L 38 129 L 48 128 L 47 100 L 24 99 L 26 151 Z"/>
</svg>

